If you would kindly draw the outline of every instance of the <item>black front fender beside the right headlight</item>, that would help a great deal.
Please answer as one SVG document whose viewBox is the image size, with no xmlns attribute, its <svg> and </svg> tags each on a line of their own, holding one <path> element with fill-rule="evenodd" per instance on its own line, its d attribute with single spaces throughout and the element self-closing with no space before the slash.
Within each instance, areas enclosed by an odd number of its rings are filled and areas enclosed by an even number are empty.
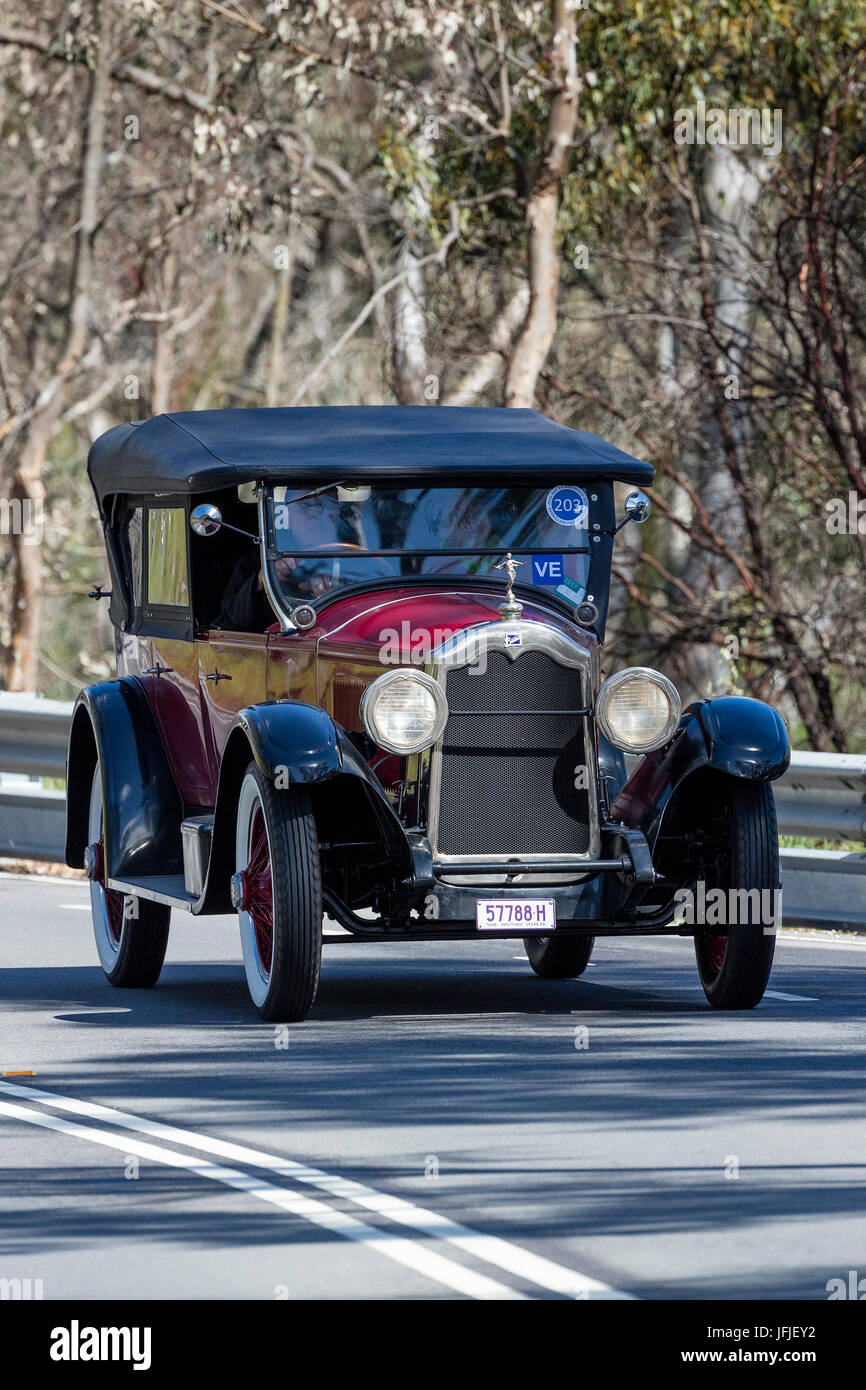
<svg viewBox="0 0 866 1390">
<path fill-rule="evenodd" d="M 613 802 L 610 819 L 659 837 L 667 808 L 687 778 L 702 769 L 752 781 L 773 781 L 791 762 L 781 714 L 763 701 L 740 695 L 696 701 L 671 741 L 646 753 Z"/>
</svg>

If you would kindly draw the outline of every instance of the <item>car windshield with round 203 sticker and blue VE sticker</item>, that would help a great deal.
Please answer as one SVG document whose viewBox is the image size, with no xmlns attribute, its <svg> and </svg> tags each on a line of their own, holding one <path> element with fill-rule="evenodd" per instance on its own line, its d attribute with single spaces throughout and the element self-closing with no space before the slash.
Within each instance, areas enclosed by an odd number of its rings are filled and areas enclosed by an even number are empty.
<svg viewBox="0 0 866 1390">
<path fill-rule="evenodd" d="M 274 488 L 267 509 L 270 578 L 286 607 L 388 578 L 482 577 L 506 550 L 518 585 L 571 606 L 587 595 L 591 498 L 571 484 Z"/>
</svg>

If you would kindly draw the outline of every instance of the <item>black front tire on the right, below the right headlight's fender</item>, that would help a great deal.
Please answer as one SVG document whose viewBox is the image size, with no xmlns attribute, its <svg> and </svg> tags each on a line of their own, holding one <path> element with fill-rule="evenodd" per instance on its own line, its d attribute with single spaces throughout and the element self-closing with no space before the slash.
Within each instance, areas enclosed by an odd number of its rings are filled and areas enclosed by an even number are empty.
<svg viewBox="0 0 866 1390">
<path fill-rule="evenodd" d="M 753 1009 L 763 999 L 776 951 L 774 894 L 781 884 L 776 801 L 770 783 L 733 783 L 721 808 L 724 831 L 716 845 L 713 887 L 758 890 L 745 910 L 728 910 L 727 931 L 695 931 L 703 992 L 714 1009 Z M 742 898 L 738 899 L 742 902 Z M 771 905 L 773 920 L 766 920 Z M 733 920 L 730 920 L 733 919 Z"/>
</svg>

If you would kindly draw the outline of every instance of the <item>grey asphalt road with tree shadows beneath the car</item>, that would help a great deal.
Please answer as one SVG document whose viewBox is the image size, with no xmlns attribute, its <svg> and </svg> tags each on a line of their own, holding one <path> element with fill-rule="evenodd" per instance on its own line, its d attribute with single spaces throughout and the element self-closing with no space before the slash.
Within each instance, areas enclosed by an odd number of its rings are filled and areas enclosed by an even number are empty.
<svg viewBox="0 0 866 1390">
<path fill-rule="evenodd" d="M 714 1013 L 689 941 L 335 945 L 259 1022 L 234 919 L 115 991 L 86 885 L 0 874 L 0 1280 L 44 1298 L 802 1298 L 866 1275 L 866 938 Z M 106 1113 L 99 1106 L 111 1108 Z M 170 1126 L 171 1129 L 167 1129 Z"/>
</svg>

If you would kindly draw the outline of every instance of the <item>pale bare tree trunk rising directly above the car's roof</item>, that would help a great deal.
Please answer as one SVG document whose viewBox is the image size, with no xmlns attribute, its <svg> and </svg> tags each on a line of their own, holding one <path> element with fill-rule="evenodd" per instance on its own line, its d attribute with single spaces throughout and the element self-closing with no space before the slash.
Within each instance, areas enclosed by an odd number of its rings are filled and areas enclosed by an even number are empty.
<svg viewBox="0 0 866 1390">
<path fill-rule="evenodd" d="M 556 334 L 559 296 L 559 190 L 574 139 L 581 82 L 577 75 L 574 0 L 553 0 L 549 65 L 555 82 L 545 143 L 527 199 L 530 307 L 517 335 L 505 386 L 506 406 L 527 407 Z"/>
</svg>

